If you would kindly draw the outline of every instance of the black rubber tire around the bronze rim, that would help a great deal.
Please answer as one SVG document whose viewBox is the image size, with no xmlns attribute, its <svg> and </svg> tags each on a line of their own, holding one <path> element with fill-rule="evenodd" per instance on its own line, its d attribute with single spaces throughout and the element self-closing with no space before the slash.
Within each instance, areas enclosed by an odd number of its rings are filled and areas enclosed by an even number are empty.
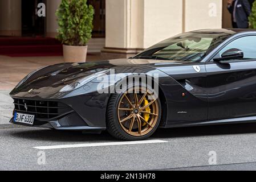
<svg viewBox="0 0 256 182">
<path fill-rule="evenodd" d="M 107 106 L 107 113 L 106 113 L 106 119 L 107 119 L 107 131 L 109 134 L 111 134 L 113 137 L 120 139 L 120 140 L 144 140 L 149 137 L 153 133 L 155 133 L 157 127 L 159 126 L 159 123 L 161 121 L 161 102 L 159 98 L 157 99 L 158 105 L 159 105 L 159 118 L 157 120 L 157 123 L 155 127 L 148 133 L 140 137 L 134 137 L 132 135 L 129 135 L 126 133 L 117 118 L 117 105 L 119 104 L 119 101 L 121 99 L 121 96 L 123 94 L 112 94 L 111 97 L 109 98 L 108 106 Z"/>
</svg>

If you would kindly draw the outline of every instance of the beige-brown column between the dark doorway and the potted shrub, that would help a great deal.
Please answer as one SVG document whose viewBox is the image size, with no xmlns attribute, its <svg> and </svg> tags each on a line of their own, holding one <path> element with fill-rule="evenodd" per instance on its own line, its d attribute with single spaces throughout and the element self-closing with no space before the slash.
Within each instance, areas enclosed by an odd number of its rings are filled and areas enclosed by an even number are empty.
<svg viewBox="0 0 256 182">
<path fill-rule="evenodd" d="M 61 0 L 46 1 L 46 36 L 55 38 L 57 35 L 58 22 L 55 12 L 60 5 Z"/>
</svg>

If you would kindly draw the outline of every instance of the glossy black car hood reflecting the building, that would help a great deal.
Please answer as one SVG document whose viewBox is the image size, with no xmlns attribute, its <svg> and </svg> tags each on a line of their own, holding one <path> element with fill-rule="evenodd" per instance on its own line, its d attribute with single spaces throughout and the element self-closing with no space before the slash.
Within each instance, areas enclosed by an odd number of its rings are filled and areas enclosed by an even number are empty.
<svg viewBox="0 0 256 182">
<path fill-rule="evenodd" d="M 168 65 L 184 64 L 181 61 L 146 60 L 146 59 L 116 59 L 95 61 L 92 63 L 63 63 L 39 69 L 23 84 L 11 91 L 11 96 L 31 97 L 49 94 L 54 96 L 67 84 L 84 77 L 114 69 L 115 73 L 148 73 L 155 68 Z M 33 89 L 34 93 L 29 93 Z"/>
</svg>

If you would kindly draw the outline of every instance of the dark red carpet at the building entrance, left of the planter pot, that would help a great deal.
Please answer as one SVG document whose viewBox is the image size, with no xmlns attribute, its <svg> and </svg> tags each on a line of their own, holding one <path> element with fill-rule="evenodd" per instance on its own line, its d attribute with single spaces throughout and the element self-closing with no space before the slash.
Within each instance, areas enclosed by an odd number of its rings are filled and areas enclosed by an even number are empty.
<svg viewBox="0 0 256 182">
<path fill-rule="evenodd" d="M 0 55 L 11 57 L 62 56 L 62 44 L 54 38 L 0 38 Z"/>
</svg>

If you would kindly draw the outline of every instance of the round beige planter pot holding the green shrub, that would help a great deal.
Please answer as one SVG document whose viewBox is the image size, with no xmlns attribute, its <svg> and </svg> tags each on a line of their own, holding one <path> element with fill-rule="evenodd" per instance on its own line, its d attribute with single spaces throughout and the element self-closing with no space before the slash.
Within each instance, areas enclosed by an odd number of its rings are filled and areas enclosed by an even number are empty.
<svg viewBox="0 0 256 182">
<path fill-rule="evenodd" d="M 88 46 L 66 46 L 63 45 L 63 56 L 66 63 L 86 62 Z"/>
</svg>

